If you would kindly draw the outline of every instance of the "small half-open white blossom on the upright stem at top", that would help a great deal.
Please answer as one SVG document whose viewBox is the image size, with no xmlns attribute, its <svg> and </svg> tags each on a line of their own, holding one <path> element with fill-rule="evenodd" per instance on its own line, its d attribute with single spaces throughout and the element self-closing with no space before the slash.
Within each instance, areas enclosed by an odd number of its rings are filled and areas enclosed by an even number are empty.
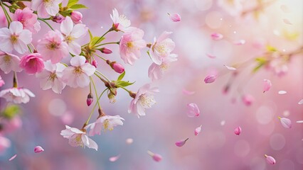
<svg viewBox="0 0 303 170">
<path fill-rule="evenodd" d="M 112 18 L 113 22 L 112 28 L 116 31 L 125 31 L 130 26 L 130 21 L 127 19 L 127 17 L 124 15 L 119 16 L 116 8 L 112 10 L 112 15 L 110 15 L 110 18 Z"/>
</svg>

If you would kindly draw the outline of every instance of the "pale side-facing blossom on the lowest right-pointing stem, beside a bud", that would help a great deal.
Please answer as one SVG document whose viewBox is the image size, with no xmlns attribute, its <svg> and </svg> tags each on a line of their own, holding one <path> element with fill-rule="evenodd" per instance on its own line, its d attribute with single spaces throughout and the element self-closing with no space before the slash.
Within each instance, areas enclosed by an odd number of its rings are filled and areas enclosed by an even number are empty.
<svg viewBox="0 0 303 170">
<path fill-rule="evenodd" d="M 153 96 L 156 92 L 159 92 L 159 89 L 151 87 L 151 84 L 142 86 L 130 102 L 128 113 L 134 113 L 138 118 L 140 115 L 145 115 L 145 109 L 151 108 L 156 103 Z"/>
</svg>

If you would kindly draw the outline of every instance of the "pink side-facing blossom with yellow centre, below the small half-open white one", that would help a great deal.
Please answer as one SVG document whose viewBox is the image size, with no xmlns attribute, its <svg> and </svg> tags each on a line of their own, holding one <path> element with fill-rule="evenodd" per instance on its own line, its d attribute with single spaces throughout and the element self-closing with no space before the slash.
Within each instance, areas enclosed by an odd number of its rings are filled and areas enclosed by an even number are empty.
<svg viewBox="0 0 303 170">
<path fill-rule="evenodd" d="M 122 60 L 127 64 L 134 64 L 138 60 L 141 52 L 140 50 L 147 46 L 143 40 L 144 31 L 139 28 L 129 28 L 119 42 L 119 52 Z"/>
</svg>

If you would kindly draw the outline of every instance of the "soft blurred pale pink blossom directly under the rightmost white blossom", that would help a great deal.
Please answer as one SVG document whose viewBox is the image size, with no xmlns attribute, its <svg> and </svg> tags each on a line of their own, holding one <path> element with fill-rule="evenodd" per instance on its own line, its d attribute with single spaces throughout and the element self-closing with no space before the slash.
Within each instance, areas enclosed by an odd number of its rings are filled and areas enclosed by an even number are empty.
<svg viewBox="0 0 303 170">
<path fill-rule="evenodd" d="M 149 66 L 149 79 L 151 79 L 151 81 L 161 79 L 164 72 L 169 68 L 171 62 L 178 60 L 177 57 L 178 55 L 170 54 L 169 56 L 164 57 L 161 64 L 153 62 L 151 66 Z"/>
</svg>

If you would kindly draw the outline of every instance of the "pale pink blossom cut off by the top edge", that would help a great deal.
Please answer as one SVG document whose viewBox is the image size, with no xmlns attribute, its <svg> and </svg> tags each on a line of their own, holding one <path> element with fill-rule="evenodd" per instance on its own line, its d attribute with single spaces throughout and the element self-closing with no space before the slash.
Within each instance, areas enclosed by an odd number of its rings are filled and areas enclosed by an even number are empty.
<svg viewBox="0 0 303 170">
<path fill-rule="evenodd" d="M 37 11 L 41 18 L 55 16 L 59 12 L 59 4 L 63 0 L 32 0 L 31 9 Z"/>
</svg>

